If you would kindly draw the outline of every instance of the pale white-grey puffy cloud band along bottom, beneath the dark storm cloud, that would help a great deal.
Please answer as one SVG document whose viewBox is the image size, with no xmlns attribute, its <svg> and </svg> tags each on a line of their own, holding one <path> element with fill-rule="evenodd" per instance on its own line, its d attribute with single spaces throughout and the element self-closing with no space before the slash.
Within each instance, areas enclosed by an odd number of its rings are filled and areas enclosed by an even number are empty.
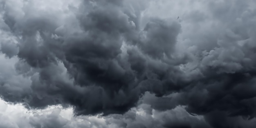
<svg viewBox="0 0 256 128">
<path fill-rule="evenodd" d="M 27 111 L 21 105 L 8 105 L 2 100 L 0 105 L 0 128 L 210 128 L 202 117 L 189 115 L 182 106 L 150 114 L 150 106 L 142 104 L 124 115 L 73 117 L 72 109 L 60 106 Z"/>
</svg>

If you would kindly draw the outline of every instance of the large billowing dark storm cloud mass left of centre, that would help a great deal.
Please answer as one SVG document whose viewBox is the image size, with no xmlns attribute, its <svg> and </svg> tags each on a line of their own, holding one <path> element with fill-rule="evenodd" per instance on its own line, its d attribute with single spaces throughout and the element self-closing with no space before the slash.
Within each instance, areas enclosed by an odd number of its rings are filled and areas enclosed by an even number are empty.
<svg viewBox="0 0 256 128">
<path fill-rule="evenodd" d="M 18 58 L 38 72 L 31 76 L 32 92 L 25 96 L 29 97 L 28 107 L 41 108 L 61 103 L 74 106 L 78 115 L 124 113 L 135 106 L 147 90 L 161 95 L 165 93 L 167 84 L 161 87 L 161 79 L 168 78 L 158 77 L 168 74 L 159 70 L 159 62 L 147 64 L 147 61 L 171 54 L 180 25 L 152 20 L 140 31 L 126 14 L 127 10 L 126 13 L 123 11 L 123 6 L 120 1 L 84 1 L 74 11 L 76 18 L 73 20 L 79 28 L 72 33 L 67 30 L 69 26 L 58 27 L 61 19 L 55 13 L 39 11 L 39 16 L 35 16 L 25 12 L 24 17 L 13 20 L 13 23 L 8 19 L 14 16 L 4 13 L 5 23 L 12 31 L 18 31 L 15 34 L 22 36 Z M 61 32 L 59 36 L 58 31 Z M 128 46 L 124 50 L 127 53 L 121 49 L 126 41 Z M 156 41 L 165 45 L 164 49 Z M 134 46 L 138 46 L 134 50 L 142 49 L 144 70 L 137 67 L 139 59 L 133 58 L 128 48 Z M 154 49 L 156 46 L 158 48 Z M 171 67 L 165 66 L 166 69 Z M 63 76 L 65 68 L 67 74 Z M 63 81 L 68 78 L 70 81 Z M 153 81 L 155 84 L 146 87 L 146 83 Z M 18 102 L 24 100 L 22 97 L 4 97 L 6 101 L 15 101 L 15 98 Z"/>
</svg>

